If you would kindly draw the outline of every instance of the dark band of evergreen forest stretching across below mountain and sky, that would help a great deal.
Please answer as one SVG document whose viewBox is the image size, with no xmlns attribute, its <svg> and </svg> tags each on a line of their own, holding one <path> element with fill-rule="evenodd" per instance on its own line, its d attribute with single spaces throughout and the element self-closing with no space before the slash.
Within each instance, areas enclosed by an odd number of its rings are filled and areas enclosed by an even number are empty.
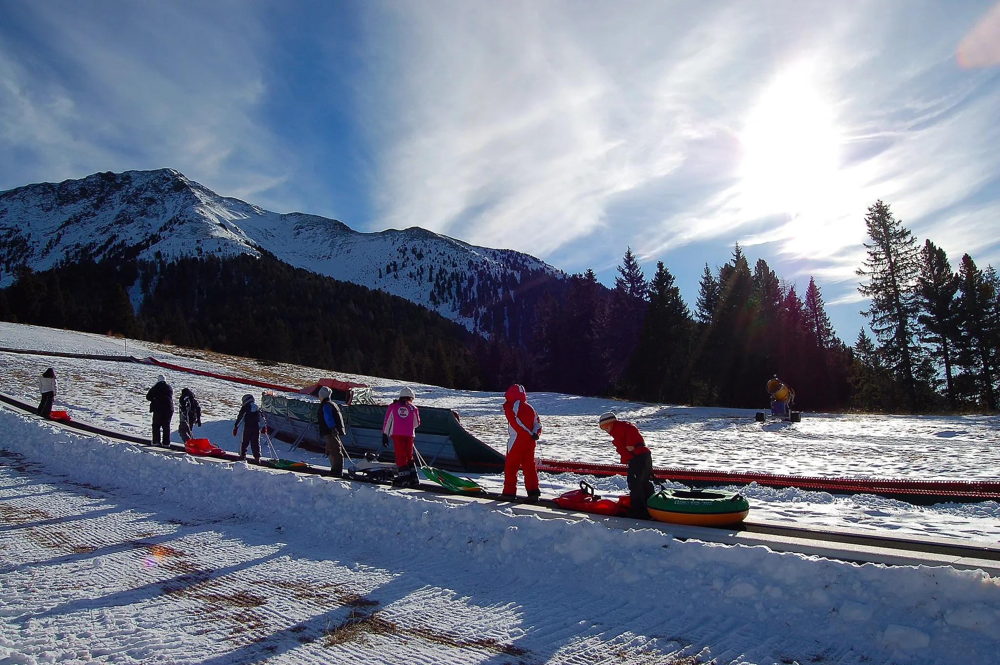
<svg viewBox="0 0 1000 665">
<path fill-rule="evenodd" d="M 662 262 L 647 279 L 627 249 L 614 288 L 591 270 L 509 280 L 502 298 L 481 308 L 484 324 L 496 322 L 485 335 L 266 252 L 172 262 L 77 256 L 44 272 L 22 267 L 0 290 L 0 319 L 470 390 L 516 382 L 529 391 L 762 408 L 777 376 L 805 411 L 995 412 L 996 271 L 969 254 L 953 268 L 882 201 L 865 224 L 857 274 L 873 334 L 862 330 L 853 345 L 834 334 L 814 279 L 799 293 L 739 244 L 721 267 L 704 266 L 693 307 Z"/>
</svg>

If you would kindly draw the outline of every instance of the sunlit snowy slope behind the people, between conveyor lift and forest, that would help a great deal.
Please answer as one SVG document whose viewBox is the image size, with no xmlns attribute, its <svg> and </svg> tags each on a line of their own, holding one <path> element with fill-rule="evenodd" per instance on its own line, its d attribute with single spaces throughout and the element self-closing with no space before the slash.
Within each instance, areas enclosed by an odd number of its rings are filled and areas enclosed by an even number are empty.
<svg viewBox="0 0 1000 665">
<path fill-rule="evenodd" d="M 9 323 L 0 323 L 0 346 L 122 355 L 127 348 L 128 355 L 152 355 L 188 367 L 292 386 L 313 383 L 330 374 L 295 365 L 265 365 L 205 351 Z M 67 407 L 74 417 L 146 436 L 149 413 L 145 394 L 156 375 L 163 372 L 175 394 L 186 386 L 198 396 L 204 427 L 196 430 L 196 435 L 207 436 L 228 450 L 238 445 L 232 436 L 232 421 L 239 411 L 240 396 L 250 390 L 246 386 L 131 363 L 4 353 L 0 353 L 0 362 L 7 368 L 4 391 L 37 400 L 37 377 L 52 366 L 59 377 L 57 404 Z M 386 401 L 404 385 L 375 377 L 334 375 L 366 382 Z M 418 403 L 457 410 L 470 431 L 504 450 L 507 435 L 501 395 L 406 385 L 416 390 Z M 256 389 L 252 392 L 259 394 Z M 555 393 L 532 393 L 529 399 L 544 425 L 539 457 L 617 462 L 610 440 L 595 426 L 598 414 L 613 409 L 639 425 L 653 450 L 654 463 L 660 466 L 847 477 L 1000 476 L 1000 417 L 996 416 L 806 413 L 802 422 L 794 425 L 762 425 L 753 421 L 752 411 L 741 409 L 649 405 Z M 180 440 L 176 432 L 174 440 Z M 314 463 L 325 460 L 322 455 L 305 451 L 289 453 L 288 446 L 280 442 L 276 446 L 281 456 Z M 496 476 L 477 479 L 489 488 L 502 484 L 502 478 Z M 542 474 L 541 480 L 543 493 L 554 496 L 575 488 L 580 476 Z M 590 480 L 609 496 L 627 491 L 622 477 Z M 872 495 L 833 496 L 756 485 L 743 493 L 751 500 L 751 515 L 760 519 L 1000 542 L 1000 504 L 992 501 L 925 507 Z"/>
</svg>

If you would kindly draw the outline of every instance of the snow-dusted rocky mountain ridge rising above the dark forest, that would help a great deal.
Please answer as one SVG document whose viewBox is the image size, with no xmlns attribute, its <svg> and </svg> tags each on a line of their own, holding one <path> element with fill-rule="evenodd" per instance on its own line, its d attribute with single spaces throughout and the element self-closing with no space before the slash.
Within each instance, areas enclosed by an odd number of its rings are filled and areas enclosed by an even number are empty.
<svg viewBox="0 0 1000 665">
<path fill-rule="evenodd" d="M 528 254 L 420 227 L 361 233 L 334 219 L 279 214 L 219 196 L 173 169 L 96 173 L 0 192 L 0 286 L 82 255 L 170 260 L 271 252 L 291 265 L 402 296 L 488 331 L 528 282 L 566 275 Z M 491 318 L 492 321 L 492 318 Z"/>
</svg>

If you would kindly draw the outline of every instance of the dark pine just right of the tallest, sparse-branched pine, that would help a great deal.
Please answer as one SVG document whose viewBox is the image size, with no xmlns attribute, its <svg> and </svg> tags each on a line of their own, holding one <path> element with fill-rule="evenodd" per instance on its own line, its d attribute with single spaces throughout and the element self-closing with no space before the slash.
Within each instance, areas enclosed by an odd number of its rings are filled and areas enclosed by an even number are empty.
<svg viewBox="0 0 1000 665">
<path fill-rule="evenodd" d="M 957 408 L 952 363 L 955 341 L 958 337 L 955 293 L 958 277 L 952 272 L 948 255 L 930 240 L 920 250 L 920 275 L 917 278 L 917 296 L 922 314 L 917 317 L 923 329 L 923 340 L 935 349 L 932 355 L 944 366 L 945 391 L 951 410 Z"/>
</svg>

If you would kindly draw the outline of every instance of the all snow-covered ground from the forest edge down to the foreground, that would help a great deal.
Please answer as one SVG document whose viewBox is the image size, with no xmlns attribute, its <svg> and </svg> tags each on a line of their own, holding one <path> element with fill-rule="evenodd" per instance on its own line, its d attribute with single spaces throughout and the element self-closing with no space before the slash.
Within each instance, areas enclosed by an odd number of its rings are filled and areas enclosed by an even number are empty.
<svg viewBox="0 0 1000 665">
<path fill-rule="evenodd" d="M 0 324 L 0 346 L 124 352 L 123 340 L 10 324 Z M 128 353 L 293 385 L 320 374 L 131 341 Z M 34 398 L 34 378 L 52 365 L 58 405 L 145 433 L 144 394 L 160 370 L 0 359 L 5 392 Z M 199 395 L 202 433 L 232 449 L 245 388 L 167 374 Z M 386 396 L 400 385 L 369 383 Z M 501 444 L 498 395 L 416 388 L 418 401 L 457 408 Z M 607 402 L 533 401 L 551 442 L 540 455 L 612 459 L 593 426 Z M 664 465 L 982 478 L 990 469 L 968 460 L 996 456 L 991 418 L 807 415 L 773 428 L 743 411 L 612 406 L 649 434 Z M 576 480 L 543 476 L 543 488 Z M 624 488 L 623 479 L 599 486 Z M 768 519 L 1000 538 L 993 503 L 747 493 L 752 515 Z M 991 663 L 998 646 L 1000 583 L 976 571 L 858 566 L 543 520 L 195 460 L 0 409 L 0 664 Z"/>
</svg>

